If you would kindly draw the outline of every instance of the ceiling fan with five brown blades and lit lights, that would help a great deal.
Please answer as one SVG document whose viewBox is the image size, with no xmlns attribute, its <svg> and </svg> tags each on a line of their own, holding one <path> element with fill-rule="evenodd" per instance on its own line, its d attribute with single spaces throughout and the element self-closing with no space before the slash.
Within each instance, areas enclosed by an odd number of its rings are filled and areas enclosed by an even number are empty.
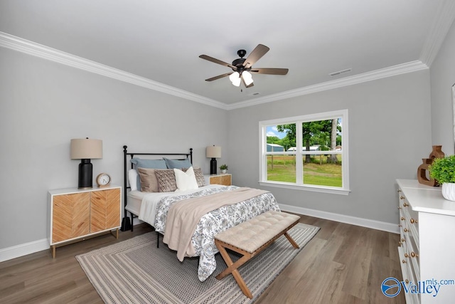
<svg viewBox="0 0 455 304">
<path fill-rule="evenodd" d="M 220 61 L 216 58 L 207 56 L 207 55 L 200 55 L 199 58 L 203 58 L 207 61 L 211 61 L 213 63 L 218 63 L 220 65 L 225 65 L 228 68 L 232 68 L 233 72 L 225 73 L 222 75 L 218 75 L 212 78 L 205 79 L 205 81 L 213 81 L 223 77 L 229 76 L 232 85 L 236 87 L 240 86 L 242 82 L 246 88 L 250 88 L 253 86 L 253 79 L 252 73 L 254 74 L 269 74 L 269 75 L 286 75 L 289 69 L 287 68 L 252 68 L 252 65 L 256 63 L 262 56 L 265 55 L 269 51 L 270 48 L 264 46 L 262 44 L 258 44 L 257 47 L 248 55 L 245 59 L 245 55 L 247 51 L 239 50 L 237 51 L 237 55 L 240 58 L 235 59 L 232 61 L 232 64 L 225 63 L 224 61 Z"/>
</svg>

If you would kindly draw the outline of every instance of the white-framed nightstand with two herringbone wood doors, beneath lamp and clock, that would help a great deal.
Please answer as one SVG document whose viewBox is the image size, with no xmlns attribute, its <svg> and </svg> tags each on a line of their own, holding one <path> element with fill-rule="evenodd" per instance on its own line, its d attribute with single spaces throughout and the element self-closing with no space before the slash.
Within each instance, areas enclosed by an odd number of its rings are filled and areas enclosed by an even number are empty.
<svg viewBox="0 0 455 304">
<path fill-rule="evenodd" d="M 55 248 L 111 231 L 119 238 L 122 187 L 56 189 L 48 192 L 48 239 Z"/>
</svg>

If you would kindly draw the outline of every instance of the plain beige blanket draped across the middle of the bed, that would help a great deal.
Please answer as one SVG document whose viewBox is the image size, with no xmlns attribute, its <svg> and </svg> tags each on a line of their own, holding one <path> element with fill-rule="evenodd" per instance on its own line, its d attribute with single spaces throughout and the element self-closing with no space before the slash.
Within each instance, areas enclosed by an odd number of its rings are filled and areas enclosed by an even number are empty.
<svg viewBox="0 0 455 304">
<path fill-rule="evenodd" d="M 185 256 L 194 256 L 196 250 L 191 243 L 194 231 L 200 218 L 210 211 L 223 206 L 240 203 L 252 199 L 267 191 L 252 188 L 237 188 L 228 192 L 220 192 L 209 196 L 198 196 L 183 199 L 173 204 L 166 216 L 166 229 L 163 242 L 177 251 L 177 258 L 183 261 Z"/>
</svg>

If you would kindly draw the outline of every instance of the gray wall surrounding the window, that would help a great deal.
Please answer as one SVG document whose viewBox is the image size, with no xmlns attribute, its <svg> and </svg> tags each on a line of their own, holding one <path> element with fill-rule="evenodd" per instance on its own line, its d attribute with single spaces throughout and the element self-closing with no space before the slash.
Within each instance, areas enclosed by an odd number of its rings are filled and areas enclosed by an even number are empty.
<svg viewBox="0 0 455 304">
<path fill-rule="evenodd" d="M 230 172 L 259 187 L 259 121 L 348 109 L 348 196 L 262 187 L 281 204 L 397 223 L 395 179 L 416 179 L 432 150 L 429 70 L 350 85 L 228 113 Z"/>
</svg>

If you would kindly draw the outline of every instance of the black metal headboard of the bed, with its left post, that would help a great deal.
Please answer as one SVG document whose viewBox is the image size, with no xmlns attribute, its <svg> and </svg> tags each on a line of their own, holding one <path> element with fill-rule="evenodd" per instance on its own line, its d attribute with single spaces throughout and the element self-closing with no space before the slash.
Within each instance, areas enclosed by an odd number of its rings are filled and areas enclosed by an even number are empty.
<svg viewBox="0 0 455 304">
<path fill-rule="evenodd" d="M 128 186 L 128 161 L 133 159 L 135 155 L 155 155 L 155 156 L 174 156 L 174 157 L 185 157 L 190 159 L 191 164 L 193 164 L 193 148 L 190 148 L 190 152 L 186 153 L 136 153 L 136 152 L 127 152 L 127 146 L 123 146 L 123 185 L 124 185 L 124 197 L 123 197 L 123 219 L 122 219 L 122 228 L 120 230 L 126 231 L 133 229 L 133 214 L 131 215 L 131 224 L 129 223 L 129 217 L 127 216 L 127 189 L 131 189 Z M 128 155 L 130 158 L 128 159 Z M 131 163 L 131 169 L 133 169 L 133 164 Z M 130 212 L 131 213 L 131 212 Z"/>
</svg>

